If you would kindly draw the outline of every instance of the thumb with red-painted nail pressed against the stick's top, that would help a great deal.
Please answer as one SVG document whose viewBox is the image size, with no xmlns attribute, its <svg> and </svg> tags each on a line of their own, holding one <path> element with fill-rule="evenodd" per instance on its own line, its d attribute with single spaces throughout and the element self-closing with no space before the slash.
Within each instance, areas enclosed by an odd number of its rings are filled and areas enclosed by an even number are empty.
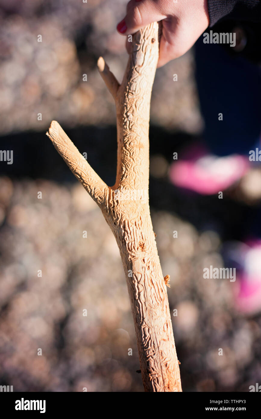
<svg viewBox="0 0 261 419">
<path fill-rule="evenodd" d="M 127 15 L 118 23 L 117 31 L 122 35 L 134 34 L 144 26 L 166 17 L 155 7 L 153 0 L 131 0 L 127 5 Z"/>
</svg>

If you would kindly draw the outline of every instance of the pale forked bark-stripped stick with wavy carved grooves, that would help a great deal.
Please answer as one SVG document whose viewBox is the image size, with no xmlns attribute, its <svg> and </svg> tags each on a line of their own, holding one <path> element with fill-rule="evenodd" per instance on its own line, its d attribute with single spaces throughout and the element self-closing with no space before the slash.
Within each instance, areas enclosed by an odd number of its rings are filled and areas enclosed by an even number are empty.
<svg viewBox="0 0 261 419">
<path fill-rule="evenodd" d="M 47 135 L 101 208 L 121 254 L 145 391 L 182 391 L 165 281 L 148 202 L 150 96 L 158 62 L 158 23 L 133 37 L 121 85 L 103 58 L 98 70 L 117 111 L 117 174 L 107 186 L 55 121 Z"/>
</svg>

